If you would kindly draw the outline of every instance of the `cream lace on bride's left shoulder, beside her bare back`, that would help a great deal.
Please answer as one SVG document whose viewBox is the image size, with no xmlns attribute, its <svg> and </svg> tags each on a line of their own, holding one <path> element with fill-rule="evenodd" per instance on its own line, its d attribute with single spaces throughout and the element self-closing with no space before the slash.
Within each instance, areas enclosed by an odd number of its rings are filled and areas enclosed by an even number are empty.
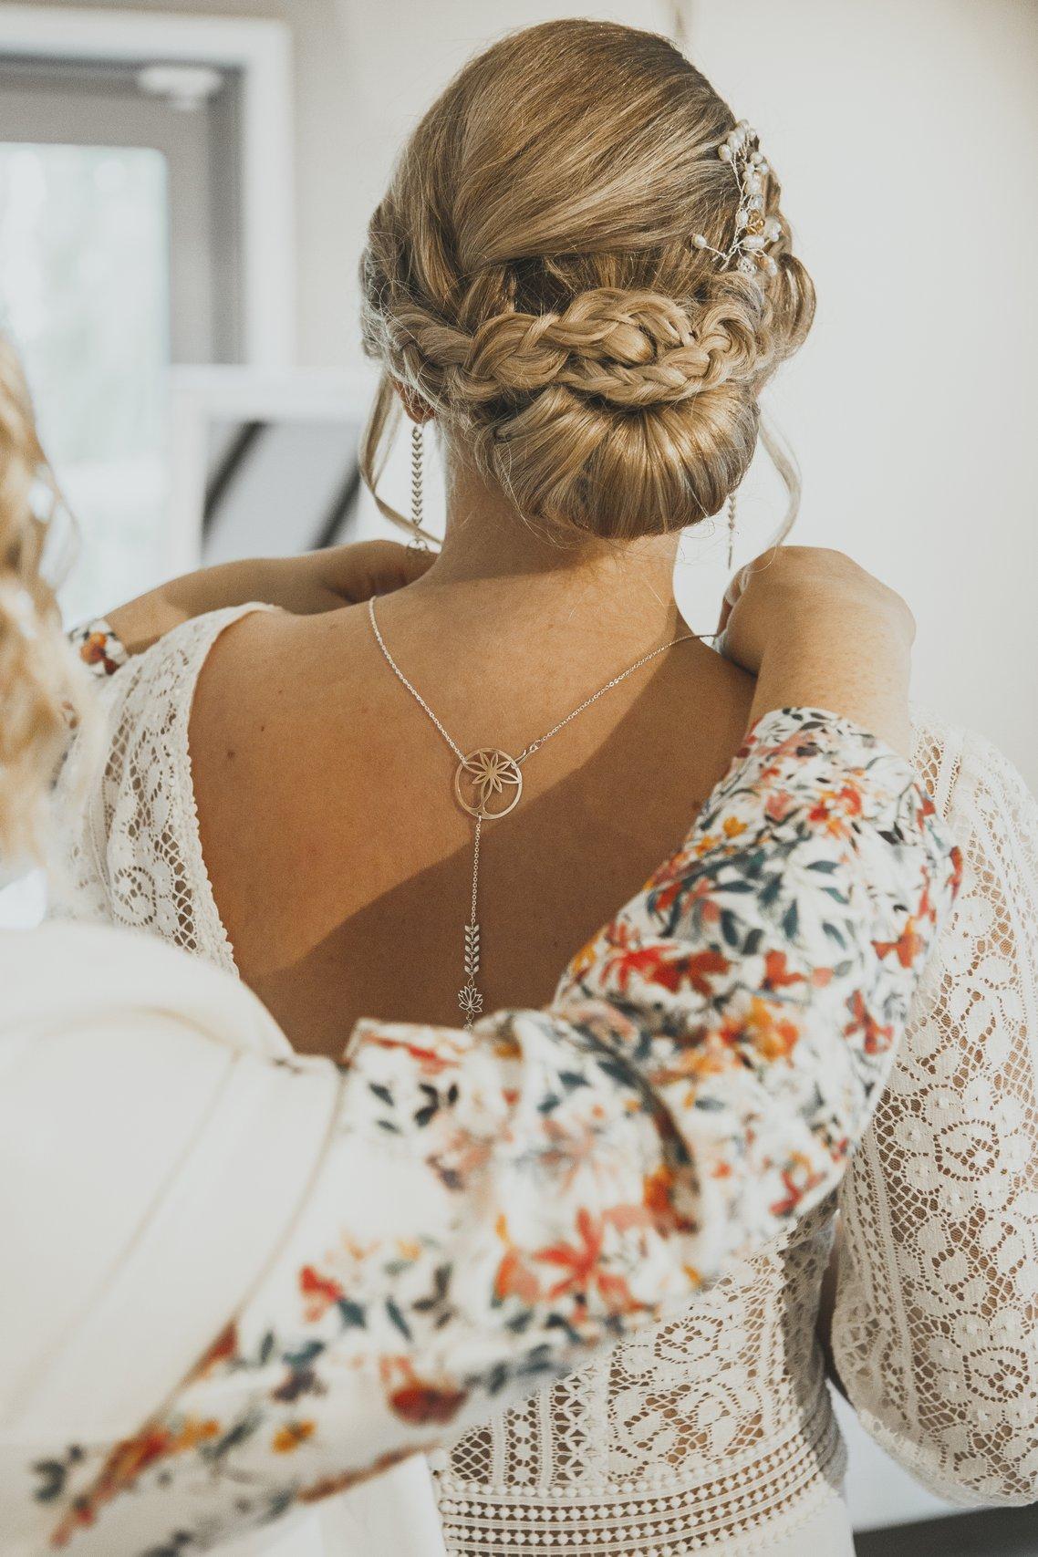
<svg viewBox="0 0 1038 1557">
<path fill-rule="evenodd" d="M 257 609 L 188 621 L 101 684 L 100 757 L 75 747 L 58 783 L 53 917 L 146 930 L 235 972 L 198 836 L 188 719 L 212 645 Z"/>
</svg>

